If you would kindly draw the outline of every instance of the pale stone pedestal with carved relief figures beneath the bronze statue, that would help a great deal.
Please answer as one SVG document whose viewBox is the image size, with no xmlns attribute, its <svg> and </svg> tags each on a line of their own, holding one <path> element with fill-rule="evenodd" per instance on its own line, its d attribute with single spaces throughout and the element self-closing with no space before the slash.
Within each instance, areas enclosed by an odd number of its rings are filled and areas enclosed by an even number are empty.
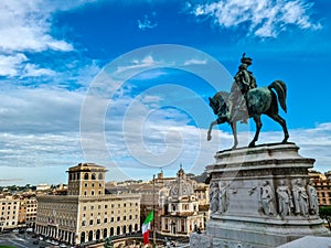
<svg viewBox="0 0 331 248">
<path fill-rule="evenodd" d="M 267 248 L 303 236 L 327 236 L 309 186 L 313 159 L 295 143 L 221 151 L 206 166 L 211 218 L 190 247 Z"/>
</svg>

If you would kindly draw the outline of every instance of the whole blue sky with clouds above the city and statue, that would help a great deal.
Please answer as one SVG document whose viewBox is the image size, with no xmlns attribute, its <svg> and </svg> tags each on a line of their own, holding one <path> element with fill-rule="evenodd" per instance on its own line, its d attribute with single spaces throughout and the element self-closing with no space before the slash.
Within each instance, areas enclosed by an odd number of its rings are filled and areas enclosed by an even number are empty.
<svg viewBox="0 0 331 248">
<path fill-rule="evenodd" d="M 66 182 L 78 162 L 108 180 L 201 173 L 232 145 L 207 97 L 239 58 L 259 86 L 288 86 L 289 141 L 330 170 L 328 0 L 1 1 L 0 185 Z M 168 45 L 164 45 L 168 44 Z M 259 143 L 280 127 L 263 118 Z M 241 145 L 255 131 L 241 126 Z"/>
</svg>

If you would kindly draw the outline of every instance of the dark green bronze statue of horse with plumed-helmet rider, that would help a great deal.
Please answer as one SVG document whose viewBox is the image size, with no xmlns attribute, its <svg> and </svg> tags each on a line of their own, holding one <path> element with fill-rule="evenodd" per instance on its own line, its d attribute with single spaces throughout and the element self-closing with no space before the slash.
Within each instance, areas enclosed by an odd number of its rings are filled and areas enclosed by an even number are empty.
<svg viewBox="0 0 331 248">
<path fill-rule="evenodd" d="M 249 147 L 255 147 L 255 142 L 258 140 L 259 131 L 263 126 L 260 121 L 261 115 L 267 115 L 282 127 L 284 140 L 286 143 L 289 134 L 285 119 L 278 115 L 278 103 L 285 112 L 287 87 L 281 80 L 275 80 L 268 87 L 256 87 L 256 80 L 253 73 L 247 71 L 247 67 L 252 65 L 252 58 L 243 57 L 239 71 L 235 75 L 234 84 L 231 93 L 218 91 L 210 99 L 210 106 L 212 107 L 217 119 L 210 125 L 207 132 L 207 140 L 212 139 L 211 132 L 215 125 L 229 123 L 233 136 L 235 149 L 238 144 L 236 122 L 247 122 L 247 118 L 253 118 L 256 123 L 256 132 L 254 139 L 249 143 Z M 276 93 L 277 96 L 276 96 Z"/>
</svg>

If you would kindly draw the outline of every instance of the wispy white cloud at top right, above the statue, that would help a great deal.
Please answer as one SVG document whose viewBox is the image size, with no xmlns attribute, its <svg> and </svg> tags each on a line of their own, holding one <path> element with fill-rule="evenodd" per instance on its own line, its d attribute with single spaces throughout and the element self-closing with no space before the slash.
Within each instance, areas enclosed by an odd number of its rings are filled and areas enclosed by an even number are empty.
<svg viewBox="0 0 331 248">
<path fill-rule="evenodd" d="M 248 35 L 260 37 L 276 37 L 289 25 L 321 29 L 321 24 L 314 23 L 309 15 L 312 3 L 303 0 L 225 0 L 190 7 L 189 12 L 200 21 L 210 18 L 221 28 L 247 28 Z"/>
</svg>

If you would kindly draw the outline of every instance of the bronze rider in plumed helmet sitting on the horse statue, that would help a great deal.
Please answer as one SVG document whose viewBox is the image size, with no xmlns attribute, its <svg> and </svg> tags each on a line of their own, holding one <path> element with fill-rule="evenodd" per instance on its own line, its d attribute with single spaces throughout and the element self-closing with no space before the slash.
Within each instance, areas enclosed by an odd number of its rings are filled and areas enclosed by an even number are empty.
<svg viewBox="0 0 331 248">
<path fill-rule="evenodd" d="M 252 65 L 252 58 L 245 57 L 245 53 L 241 60 L 239 71 L 234 76 L 235 82 L 232 85 L 231 94 L 227 98 L 228 114 L 227 118 L 232 122 L 235 120 L 238 111 L 243 114 L 242 122 L 247 123 L 247 93 L 249 89 L 256 88 L 256 79 L 252 72 L 247 69 Z M 246 115 L 244 115 L 246 112 Z"/>
</svg>

